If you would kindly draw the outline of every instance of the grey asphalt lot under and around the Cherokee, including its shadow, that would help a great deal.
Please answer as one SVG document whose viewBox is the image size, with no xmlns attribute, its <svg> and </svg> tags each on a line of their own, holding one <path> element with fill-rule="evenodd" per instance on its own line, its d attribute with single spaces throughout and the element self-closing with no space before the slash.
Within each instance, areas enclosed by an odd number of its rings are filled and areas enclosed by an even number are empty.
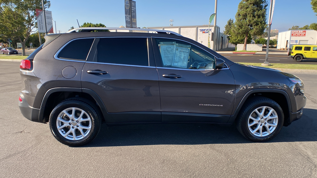
<svg viewBox="0 0 317 178">
<path fill-rule="evenodd" d="M 18 66 L 0 61 L 0 177 L 317 177 L 317 75 L 297 74 L 306 84 L 304 115 L 267 143 L 234 127 L 147 124 L 104 127 L 72 148 L 21 115 Z"/>
</svg>

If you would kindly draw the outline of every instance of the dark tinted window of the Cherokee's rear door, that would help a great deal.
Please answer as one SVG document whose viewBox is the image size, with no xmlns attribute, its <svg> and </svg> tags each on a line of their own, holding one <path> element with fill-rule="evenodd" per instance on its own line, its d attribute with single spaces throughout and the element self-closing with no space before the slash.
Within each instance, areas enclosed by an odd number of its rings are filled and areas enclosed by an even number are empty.
<svg viewBox="0 0 317 178">
<path fill-rule="evenodd" d="M 98 62 L 149 66 L 147 38 L 101 38 Z"/>
</svg>

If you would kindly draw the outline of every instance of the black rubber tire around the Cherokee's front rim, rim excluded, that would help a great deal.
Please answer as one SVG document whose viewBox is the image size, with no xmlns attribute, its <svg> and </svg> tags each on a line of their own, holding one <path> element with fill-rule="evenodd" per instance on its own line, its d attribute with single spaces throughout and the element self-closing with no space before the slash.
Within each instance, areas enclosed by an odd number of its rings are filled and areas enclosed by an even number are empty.
<svg viewBox="0 0 317 178">
<path fill-rule="evenodd" d="M 256 108 L 259 108 L 262 106 L 268 106 L 268 107 L 271 107 L 275 110 L 275 112 L 278 116 L 278 123 L 277 123 L 275 130 L 271 134 L 264 136 L 264 137 L 258 137 L 258 136 L 253 135 L 250 132 L 249 127 L 248 127 L 248 121 L 249 121 L 250 114 Z M 284 122 L 284 115 L 283 115 L 283 111 L 279 105 L 276 105 L 274 102 L 271 102 L 271 101 L 261 101 L 261 102 L 257 102 L 255 104 L 249 106 L 247 112 L 245 112 L 245 114 L 243 116 L 243 130 L 244 130 L 246 136 L 249 137 L 251 140 L 256 141 L 256 142 L 265 142 L 265 141 L 271 140 L 280 132 L 280 130 L 283 126 L 283 122 Z"/>
</svg>

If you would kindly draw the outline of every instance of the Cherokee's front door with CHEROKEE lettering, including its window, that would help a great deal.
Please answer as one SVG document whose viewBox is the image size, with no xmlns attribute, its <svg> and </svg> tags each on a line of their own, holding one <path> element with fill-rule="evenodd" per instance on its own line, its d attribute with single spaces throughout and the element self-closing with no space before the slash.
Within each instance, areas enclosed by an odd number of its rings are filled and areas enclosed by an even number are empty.
<svg viewBox="0 0 317 178">
<path fill-rule="evenodd" d="M 162 122 L 226 123 L 219 116 L 229 116 L 235 102 L 235 80 L 229 67 L 215 70 L 215 57 L 193 44 L 163 38 L 152 41 Z"/>
</svg>

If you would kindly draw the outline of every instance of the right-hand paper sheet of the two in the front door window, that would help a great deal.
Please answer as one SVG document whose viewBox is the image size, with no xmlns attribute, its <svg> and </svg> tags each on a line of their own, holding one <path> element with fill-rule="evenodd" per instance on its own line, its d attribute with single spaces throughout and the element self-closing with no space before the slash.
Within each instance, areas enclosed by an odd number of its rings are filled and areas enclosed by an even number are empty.
<svg viewBox="0 0 317 178">
<path fill-rule="evenodd" d="M 187 68 L 189 51 L 191 45 L 175 44 L 173 67 Z"/>
</svg>

